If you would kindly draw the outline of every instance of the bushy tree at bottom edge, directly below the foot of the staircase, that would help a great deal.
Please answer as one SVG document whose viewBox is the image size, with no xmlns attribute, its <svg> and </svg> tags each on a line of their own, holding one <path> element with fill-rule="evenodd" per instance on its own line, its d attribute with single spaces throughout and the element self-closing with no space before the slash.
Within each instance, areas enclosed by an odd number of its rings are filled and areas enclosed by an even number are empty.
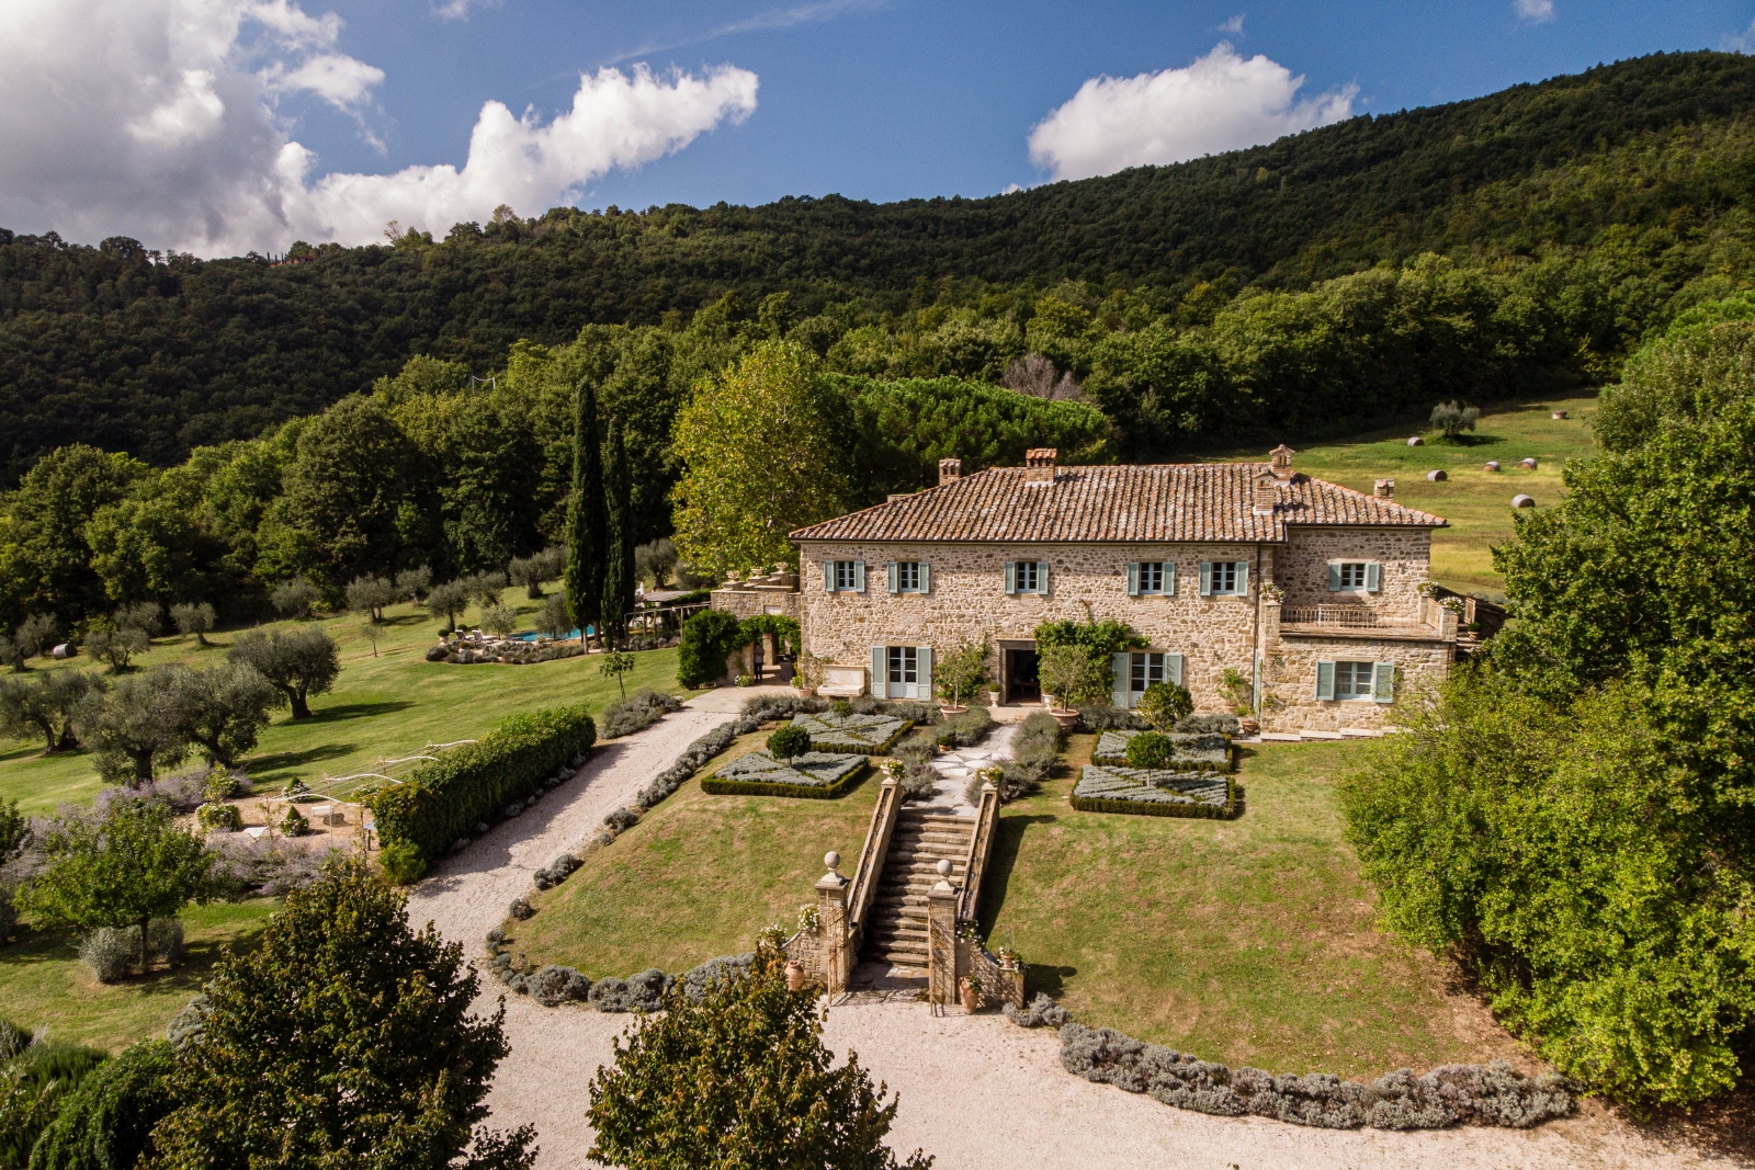
<svg viewBox="0 0 1755 1170">
<path fill-rule="evenodd" d="M 823 1045 L 816 989 L 788 991 L 786 956 L 756 947 L 698 1002 L 672 988 L 663 1012 L 639 1016 L 614 1063 L 591 1079 L 590 1156 L 628 1170 L 672 1166 L 841 1166 L 927 1170 L 883 1144 L 897 1102 L 872 1088 L 858 1056 L 837 1067 Z"/>
</svg>

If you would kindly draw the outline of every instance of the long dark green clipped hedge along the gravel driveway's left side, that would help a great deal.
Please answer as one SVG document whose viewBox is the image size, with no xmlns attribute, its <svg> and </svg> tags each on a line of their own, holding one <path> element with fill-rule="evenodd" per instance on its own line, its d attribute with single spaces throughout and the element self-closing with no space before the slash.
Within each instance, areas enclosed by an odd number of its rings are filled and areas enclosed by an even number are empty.
<svg viewBox="0 0 1755 1170">
<path fill-rule="evenodd" d="M 539 793 L 595 742 L 597 724 L 583 707 L 511 716 L 476 744 L 455 747 L 372 795 L 377 837 L 386 849 L 412 845 L 430 865 L 477 824 Z"/>
</svg>

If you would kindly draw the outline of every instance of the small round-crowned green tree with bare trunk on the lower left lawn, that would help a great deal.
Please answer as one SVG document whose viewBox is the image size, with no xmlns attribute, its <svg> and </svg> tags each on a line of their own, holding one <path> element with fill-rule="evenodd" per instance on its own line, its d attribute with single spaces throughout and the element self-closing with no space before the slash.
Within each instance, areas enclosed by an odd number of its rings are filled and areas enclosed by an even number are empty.
<svg viewBox="0 0 1755 1170">
<path fill-rule="evenodd" d="M 81 930 L 139 928 L 142 974 L 153 963 L 147 923 L 216 893 L 214 856 L 156 800 L 118 800 L 102 819 L 67 817 L 39 847 L 46 868 L 19 891 L 19 909 Z"/>
</svg>

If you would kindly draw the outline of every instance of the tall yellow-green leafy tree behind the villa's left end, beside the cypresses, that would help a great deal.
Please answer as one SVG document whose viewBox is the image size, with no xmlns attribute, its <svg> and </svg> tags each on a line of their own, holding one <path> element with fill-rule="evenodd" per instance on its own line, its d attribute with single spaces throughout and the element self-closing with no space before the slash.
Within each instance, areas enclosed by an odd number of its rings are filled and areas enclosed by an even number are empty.
<svg viewBox="0 0 1755 1170">
<path fill-rule="evenodd" d="M 855 498 L 842 412 L 797 342 L 762 342 L 700 382 L 676 417 L 683 560 L 713 574 L 793 561 L 786 533 Z"/>
</svg>

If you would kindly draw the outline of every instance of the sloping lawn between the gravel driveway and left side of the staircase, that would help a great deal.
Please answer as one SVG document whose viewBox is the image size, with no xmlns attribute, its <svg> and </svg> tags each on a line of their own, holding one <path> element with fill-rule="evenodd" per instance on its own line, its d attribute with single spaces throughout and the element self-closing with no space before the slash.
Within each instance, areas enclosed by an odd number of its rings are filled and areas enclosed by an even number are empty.
<svg viewBox="0 0 1755 1170">
<path fill-rule="evenodd" d="M 765 738 L 741 737 L 704 774 Z M 841 853 L 851 872 L 878 788 L 867 775 L 839 800 L 709 796 L 697 775 L 562 886 L 532 896 L 535 917 L 504 930 L 530 961 L 591 979 L 684 972 L 749 951 L 763 926 L 795 930 L 799 907 L 816 902 L 825 853 Z"/>
</svg>

